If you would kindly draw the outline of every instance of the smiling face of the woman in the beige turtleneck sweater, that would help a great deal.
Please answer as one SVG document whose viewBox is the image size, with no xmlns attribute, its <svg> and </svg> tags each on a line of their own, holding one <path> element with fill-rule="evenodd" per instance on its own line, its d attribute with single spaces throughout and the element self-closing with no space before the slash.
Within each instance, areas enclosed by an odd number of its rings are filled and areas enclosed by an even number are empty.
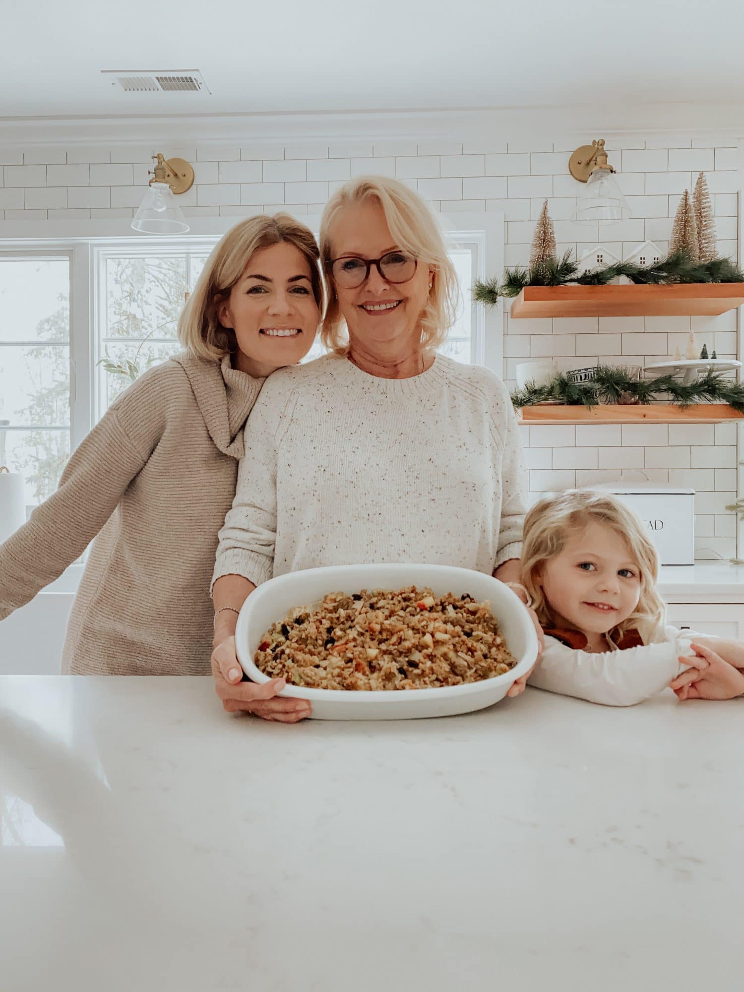
<svg viewBox="0 0 744 992">
<path fill-rule="evenodd" d="M 263 377 L 297 364 L 310 351 L 320 319 L 310 262 L 286 241 L 261 248 L 218 313 L 222 326 L 235 331 L 241 371 Z"/>
</svg>

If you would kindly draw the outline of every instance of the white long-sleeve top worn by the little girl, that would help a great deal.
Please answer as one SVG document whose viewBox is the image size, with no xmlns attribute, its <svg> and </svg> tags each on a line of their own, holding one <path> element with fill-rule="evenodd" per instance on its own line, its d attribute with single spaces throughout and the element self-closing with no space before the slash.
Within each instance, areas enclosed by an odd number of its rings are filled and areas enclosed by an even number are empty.
<svg viewBox="0 0 744 992">
<path fill-rule="evenodd" d="M 710 635 L 660 626 L 649 644 L 593 653 L 548 636 L 543 657 L 528 682 L 605 706 L 633 706 L 661 692 L 694 664 L 690 644 L 697 637 Z M 689 665 L 680 661 L 681 656 L 690 659 Z"/>
</svg>

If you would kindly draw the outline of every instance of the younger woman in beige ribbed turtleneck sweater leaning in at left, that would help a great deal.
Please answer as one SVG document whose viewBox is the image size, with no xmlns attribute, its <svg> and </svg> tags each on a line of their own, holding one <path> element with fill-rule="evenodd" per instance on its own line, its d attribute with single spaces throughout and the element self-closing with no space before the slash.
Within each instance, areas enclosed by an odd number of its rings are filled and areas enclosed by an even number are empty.
<svg viewBox="0 0 744 992">
<path fill-rule="evenodd" d="M 118 397 L 0 546 L 2 620 L 95 539 L 63 673 L 208 674 L 209 578 L 245 420 L 264 378 L 310 350 L 322 285 L 315 239 L 289 214 L 228 231 L 179 320 L 184 352 Z"/>
</svg>

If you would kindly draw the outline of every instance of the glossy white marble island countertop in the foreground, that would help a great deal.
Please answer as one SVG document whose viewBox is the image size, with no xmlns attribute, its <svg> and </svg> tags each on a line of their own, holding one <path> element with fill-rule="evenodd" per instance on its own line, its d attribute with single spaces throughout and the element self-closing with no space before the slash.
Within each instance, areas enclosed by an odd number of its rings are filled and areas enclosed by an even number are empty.
<svg viewBox="0 0 744 992">
<path fill-rule="evenodd" d="M 739 989 L 739 701 L 287 726 L 0 678 L 0 986 Z"/>
</svg>

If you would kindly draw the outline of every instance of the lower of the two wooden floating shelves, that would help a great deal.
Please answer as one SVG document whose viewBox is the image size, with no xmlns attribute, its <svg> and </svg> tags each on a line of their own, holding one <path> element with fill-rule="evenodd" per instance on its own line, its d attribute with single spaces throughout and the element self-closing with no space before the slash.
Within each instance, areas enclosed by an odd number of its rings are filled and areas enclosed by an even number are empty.
<svg viewBox="0 0 744 992">
<path fill-rule="evenodd" d="M 667 403 L 608 403 L 591 408 L 539 403 L 523 407 L 521 415 L 521 424 L 716 424 L 744 420 L 744 414 L 725 403 L 696 403 L 686 410 Z"/>
</svg>

